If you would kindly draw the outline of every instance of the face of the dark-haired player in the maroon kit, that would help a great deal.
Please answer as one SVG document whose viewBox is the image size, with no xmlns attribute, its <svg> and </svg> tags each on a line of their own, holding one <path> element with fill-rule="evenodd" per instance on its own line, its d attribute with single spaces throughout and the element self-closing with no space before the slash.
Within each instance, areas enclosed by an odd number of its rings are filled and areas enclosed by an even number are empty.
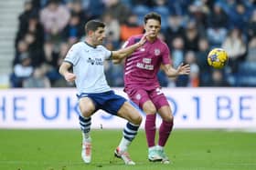
<svg viewBox="0 0 256 170">
<path fill-rule="evenodd" d="M 144 25 L 144 30 L 148 33 L 149 38 L 155 38 L 161 29 L 160 22 L 155 19 L 148 19 Z"/>
</svg>

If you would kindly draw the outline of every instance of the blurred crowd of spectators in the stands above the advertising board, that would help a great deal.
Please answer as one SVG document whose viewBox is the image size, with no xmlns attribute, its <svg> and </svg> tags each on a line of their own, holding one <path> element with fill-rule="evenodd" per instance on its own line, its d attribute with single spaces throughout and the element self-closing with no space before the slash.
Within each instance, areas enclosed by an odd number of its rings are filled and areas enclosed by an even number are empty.
<svg viewBox="0 0 256 170">
<path fill-rule="evenodd" d="M 191 65 L 191 74 L 168 79 L 163 87 L 256 86 L 255 0 L 8 0 L 0 2 L 0 87 L 73 87 L 59 75 L 69 47 L 84 40 L 90 19 L 106 23 L 108 49 L 142 34 L 143 17 L 162 15 L 159 37 L 169 46 L 173 65 Z M 208 51 L 222 47 L 229 64 L 208 66 Z M 123 65 L 106 63 L 113 87 L 123 87 Z"/>
</svg>

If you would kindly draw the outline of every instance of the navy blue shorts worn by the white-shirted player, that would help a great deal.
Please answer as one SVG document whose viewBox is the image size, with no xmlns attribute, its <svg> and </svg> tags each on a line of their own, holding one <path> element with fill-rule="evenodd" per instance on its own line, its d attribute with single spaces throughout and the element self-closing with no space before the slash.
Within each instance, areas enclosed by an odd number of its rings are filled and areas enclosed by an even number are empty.
<svg viewBox="0 0 256 170">
<path fill-rule="evenodd" d="M 117 115 L 117 112 L 122 107 L 123 103 L 126 102 L 126 99 L 121 95 L 116 95 L 113 91 L 108 91 L 99 94 L 86 94 L 82 93 L 77 95 L 81 97 L 89 97 L 95 105 L 95 112 L 99 109 L 102 109 L 108 112 L 111 115 Z"/>
</svg>

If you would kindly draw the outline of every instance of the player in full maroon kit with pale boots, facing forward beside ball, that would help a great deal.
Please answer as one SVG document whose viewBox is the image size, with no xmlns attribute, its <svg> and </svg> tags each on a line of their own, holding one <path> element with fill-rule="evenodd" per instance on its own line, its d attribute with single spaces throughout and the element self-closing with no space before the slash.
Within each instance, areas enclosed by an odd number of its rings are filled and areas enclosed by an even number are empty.
<svg viewBox="0 0 256 170">
<path fill-rule="evenodd" d="M 172 131 L 174 117 L 165 95 L 161 92 L 157 72 L 162 67 L 168 77 L 188 75 L 190 66 L 181 64 L 177 69 L 172 67 L 168 46 L 157 38 L 160 29 L 160 15 L 150 13 L 144 16 L 144 30 L 148 34 L 147 41 L 125 59 L 124 91 L 146 114 L 144 129 L 148 145 L 148 159 L 168 164 L 170 161 L 165 155 L 164 146 Z M 130 37 L 123 47 L 135 44 L 142 36 Z M 159 128 L 157 145 L 155 145 L 156 113 L 163 120 Z"/>
</svg>

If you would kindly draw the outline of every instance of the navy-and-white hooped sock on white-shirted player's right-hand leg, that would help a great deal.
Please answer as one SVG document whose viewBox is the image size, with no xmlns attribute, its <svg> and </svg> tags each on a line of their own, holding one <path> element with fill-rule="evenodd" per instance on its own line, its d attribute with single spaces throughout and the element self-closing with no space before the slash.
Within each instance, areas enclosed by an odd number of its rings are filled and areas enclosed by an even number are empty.
<svg viewBox="0 0 256 170">
<path fill-rule="evenodd" d="M 134 125 L 130 122 L 126 124 L 123 129 L 123 138 L 119 145 L 121 151 L 126 151 L 128 146 L 131 145 L 135 135 L 137 135 L 139 126 L 140 125 Z"/>
</svg>

